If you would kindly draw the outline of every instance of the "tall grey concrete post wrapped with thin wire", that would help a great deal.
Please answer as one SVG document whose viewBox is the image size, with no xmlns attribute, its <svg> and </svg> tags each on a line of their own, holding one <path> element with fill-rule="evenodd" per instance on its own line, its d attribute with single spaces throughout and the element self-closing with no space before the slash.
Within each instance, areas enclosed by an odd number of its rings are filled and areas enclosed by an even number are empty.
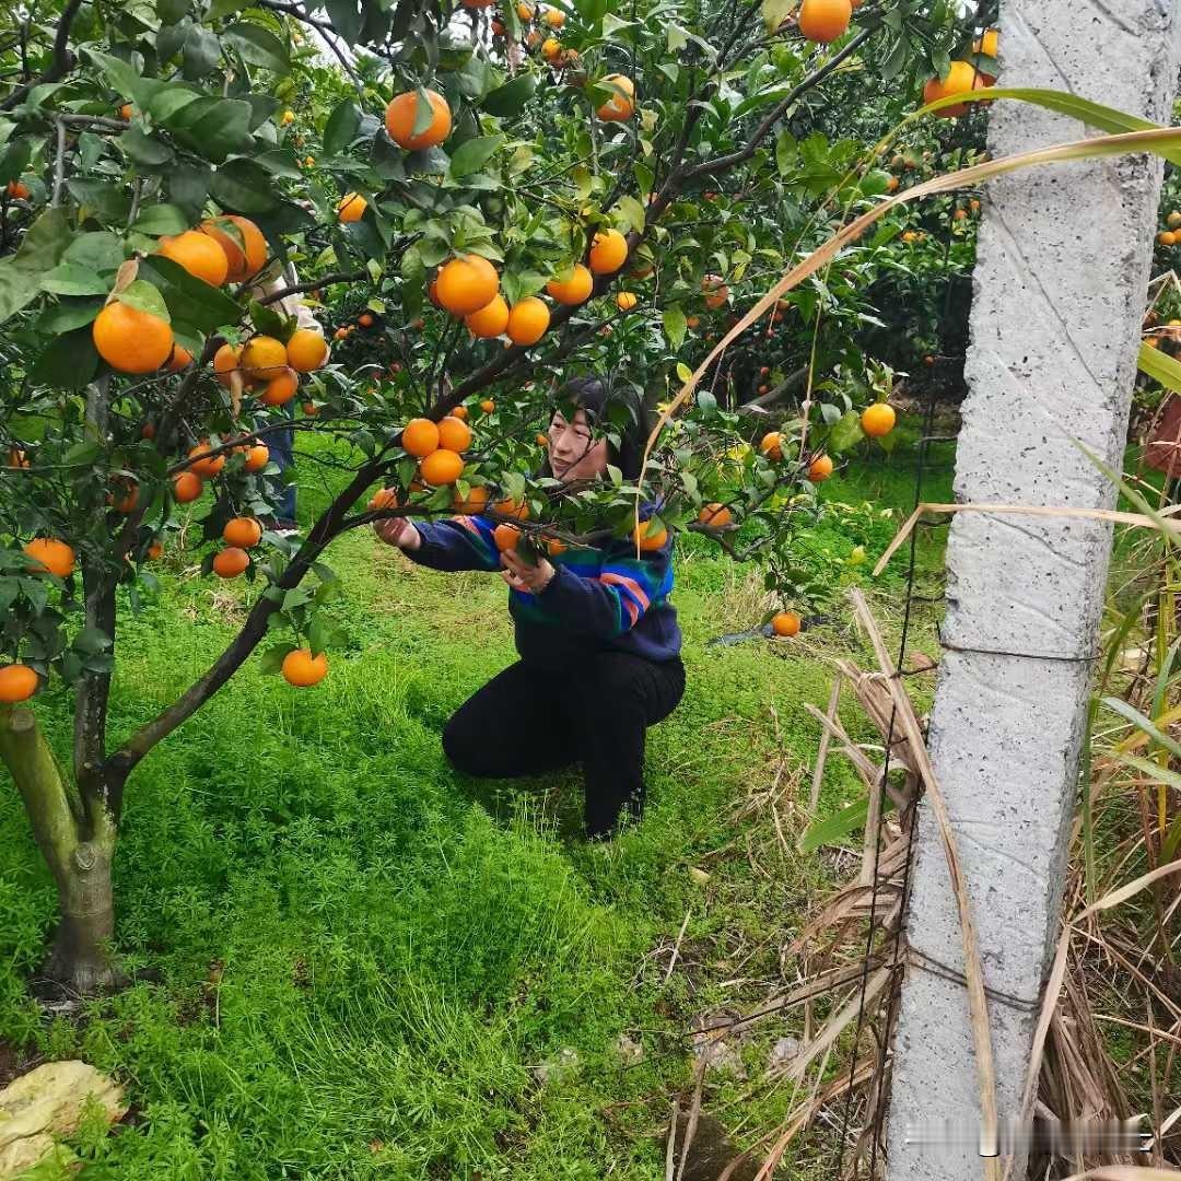
<svg viewBox="0 0 1181 1181">
<path fill-rule="evenodd" d="M 1179 31 L 1181 0 L 1001 0 L 1000 85 L 1072 91 L 1168 123 Z M 991 109 L 988 148 L 1009 156 L 1087 133 L 1005 102 Z M 959 501 L 1114 505 L 1113 485 L 1071 439 L 1121 466 L 1161 175 L 1155 157 L 1122 157 L 990 184 Z M 1111 530 L 1097 522 L 961 514 L 951 524 L 931 752 L 994 990 L 1003 1122 L 1018 1110 L 1057 934 L 1110 548 Z M 916 840 L 888 1176 L 972 1181 L 984 1176 L 979 1091 L 955 979 L 959 922 L 929 809 Z M 919 1124 L 944 1121 L 961 1135 L 913 1138 Z"/>
</svg>

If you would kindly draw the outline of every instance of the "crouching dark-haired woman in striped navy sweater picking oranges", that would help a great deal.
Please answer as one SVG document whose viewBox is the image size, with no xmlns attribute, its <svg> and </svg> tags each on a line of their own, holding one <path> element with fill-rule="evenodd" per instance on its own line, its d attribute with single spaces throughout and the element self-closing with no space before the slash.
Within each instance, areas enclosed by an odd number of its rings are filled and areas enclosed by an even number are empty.
<svg viewBox="0 0 1181 1181">
<path fill-rule="evenodd" d="M 595 482 L 616 465 L 638 481 L 647 438 L 642 404 L 631 391 L 611 398 L 627 424 L 606 437 L 608 392 L 598 378 L 561 391 L 549 423 L 542 475 L 565 484 Z M 657 505 L 644 504 L 640 520 Z M 581 763 L 587 836 L 613 836 L 644 808 L 648 726 L 666 718 L 685 691 L 680 627 L 671 601 L 672 534 L 659 549 L 608 539 L 570 547 L 535 563 L 500 553 L 488 514 L 436 522 L 391 517 L 378 536 L 436 570 L 498 570 L 520 659 L 477 690 L 446 723 L 443 750 L 461 771 L 487 778 L 539 775 Z"/>
</svg>

